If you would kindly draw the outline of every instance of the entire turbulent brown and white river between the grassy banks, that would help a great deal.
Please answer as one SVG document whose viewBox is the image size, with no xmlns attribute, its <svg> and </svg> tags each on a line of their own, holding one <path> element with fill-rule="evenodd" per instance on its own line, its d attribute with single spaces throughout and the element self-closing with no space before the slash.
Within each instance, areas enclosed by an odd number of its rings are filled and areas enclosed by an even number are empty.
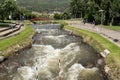
<svg viewBox="0 0 120 80">
<path fill-rule="evenodd" d="M 31 49 L 0 66 L 0 80 L 104 80 L 100 58 L 80 37 L 58 29 L 39 29 Z"/>
</svg>

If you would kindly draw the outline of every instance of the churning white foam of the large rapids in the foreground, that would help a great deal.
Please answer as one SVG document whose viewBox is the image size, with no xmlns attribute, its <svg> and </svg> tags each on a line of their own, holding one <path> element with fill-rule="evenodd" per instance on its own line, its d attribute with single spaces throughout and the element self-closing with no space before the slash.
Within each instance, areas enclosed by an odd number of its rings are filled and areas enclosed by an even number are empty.
<svg viewBox="0 0 120 80">
<path fill-rule="evenodd" d="M 75 63 L 77 55 L 80 54 L 80 47 L 76 43 L 70 43 L 63 49 L 54 49 L 51 45 L 33 46 L 33 49 L 35 49 L 33 68 L 19 68 L 18 74 L 13 80 L 34 80 L 34 76 L 37 74 L 39 74 L 40 79 L 54 80 L 54 74 L 58 75 L 59 59 L 61 60 L 61 71 L 59 74 L 62 77 L 66 77 L 66 80 L 78 80 L 79 73 L 85 69 L 81 64 Z M 68 65 L 71 67 L 69 68 Z M 36 67 L 38 68 L 37 73 Z M 67 69 L 68 72 L 64 71 L 64 69 Z"/>
</svg>

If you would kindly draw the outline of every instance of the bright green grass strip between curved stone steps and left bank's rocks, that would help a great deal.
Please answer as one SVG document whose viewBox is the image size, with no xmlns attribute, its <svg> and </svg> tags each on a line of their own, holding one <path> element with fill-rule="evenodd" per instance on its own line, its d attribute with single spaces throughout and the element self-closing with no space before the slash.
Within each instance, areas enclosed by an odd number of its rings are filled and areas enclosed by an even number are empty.
<svg viewBox="0 0 120 80">
<path fill-rule="evenodd" d="M 25 40 L 28 40 L 29 37 L 34 33 L 32 27 L 25 25 L 25 30 L 20 32 L 18 35 L 0 40 L 0 51 L 3 51 L 15 44 L 21 44 Z"/>
</svg>

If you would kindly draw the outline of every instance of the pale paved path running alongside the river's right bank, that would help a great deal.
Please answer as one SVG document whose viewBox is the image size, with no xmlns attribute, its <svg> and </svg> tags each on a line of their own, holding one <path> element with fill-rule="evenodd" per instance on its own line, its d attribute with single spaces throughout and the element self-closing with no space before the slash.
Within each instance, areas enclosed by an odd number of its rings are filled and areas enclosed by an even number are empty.
<svg viewBox="0 0 120 80">
<path fill-rule="evenodd" d="M 67 21 L 67 23 L 77 28 L 98 33 L 120 47 L 120 32 L 118 31 L 106 29 L 100 26 L 94 26 L 93 24 L 83 24 L 82 22 L 78 23 L 73 21 Z"/>
</svg>

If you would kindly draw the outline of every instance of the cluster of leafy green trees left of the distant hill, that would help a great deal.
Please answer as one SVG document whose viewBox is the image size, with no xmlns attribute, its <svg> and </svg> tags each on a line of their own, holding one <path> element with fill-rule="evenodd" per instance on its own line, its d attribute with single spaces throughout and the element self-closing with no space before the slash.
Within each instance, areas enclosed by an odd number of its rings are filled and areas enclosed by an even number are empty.
<svg viewBox="0 0 120 80">
<path fill-rule="evenodd" d="M 5 19 L 30 19 L 36 17 L 31 11 L 20 7 L 16 0 L 0 0 L 0 20 Z"/>
</svg>

